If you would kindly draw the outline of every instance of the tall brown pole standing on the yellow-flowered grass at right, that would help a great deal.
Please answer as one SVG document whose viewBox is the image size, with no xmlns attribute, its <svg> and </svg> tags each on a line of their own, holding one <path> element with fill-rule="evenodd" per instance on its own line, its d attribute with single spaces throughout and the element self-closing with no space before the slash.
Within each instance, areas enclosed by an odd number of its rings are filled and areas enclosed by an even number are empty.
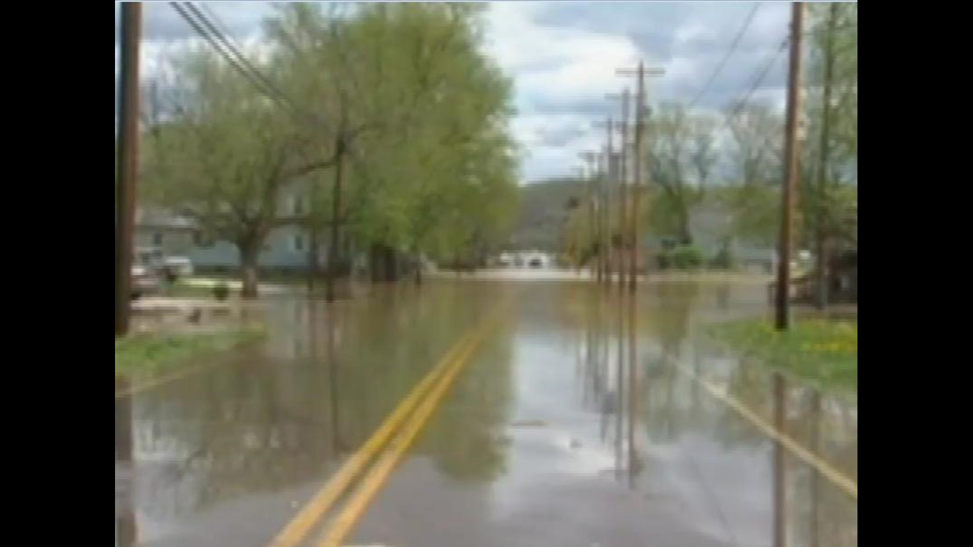
<svg viewBox="0 0 973 547">
<path fill-rule="evenodd" d="M 801 39 L 804 3 L 791 4 L 790 66 L 787 78 L 787 121 L 784 134 L 784 179 L 781 194 L 779 256 L 777 257 L 777 290 L 775 327 L 785 331 L 790 326 L 790 262 L 794 230 L 794 195 L 798 177 L 797 115 L 801 91 Z"/>
</svg>

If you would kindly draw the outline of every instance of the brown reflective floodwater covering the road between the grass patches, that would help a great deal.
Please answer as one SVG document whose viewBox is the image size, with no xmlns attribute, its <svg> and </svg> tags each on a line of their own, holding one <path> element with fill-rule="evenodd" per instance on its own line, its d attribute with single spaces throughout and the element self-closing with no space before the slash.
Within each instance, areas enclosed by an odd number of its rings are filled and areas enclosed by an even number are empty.
<svg viewBox="0 0 973 547">
<path fill-rule="evenodd" d="M 499 310 L 349 545 L 856 545 L 856 486 L 834 480 L 857 480 L 856 396 L 705 337 L 766 301 L 760 283 L 646 285 L 632 307 L 617 287 L 475 278 L 269 298 L 265 343 L 116 399 L 116 544 L 268 545 Z"/>
</svg>

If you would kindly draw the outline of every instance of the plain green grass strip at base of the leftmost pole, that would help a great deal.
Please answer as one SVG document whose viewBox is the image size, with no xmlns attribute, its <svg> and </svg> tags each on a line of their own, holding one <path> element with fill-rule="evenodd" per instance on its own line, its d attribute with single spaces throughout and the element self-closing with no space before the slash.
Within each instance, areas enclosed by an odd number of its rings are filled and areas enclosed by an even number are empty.
<svg viewBox="0 0 973 547">
<path fill-rule="evenodd" d="M 259 340 L 264 331 L 236 330 L 204 334 L 133 335 L 115 341 L 115 375 L 159 372 L 187 359 Z"/>
</svg>

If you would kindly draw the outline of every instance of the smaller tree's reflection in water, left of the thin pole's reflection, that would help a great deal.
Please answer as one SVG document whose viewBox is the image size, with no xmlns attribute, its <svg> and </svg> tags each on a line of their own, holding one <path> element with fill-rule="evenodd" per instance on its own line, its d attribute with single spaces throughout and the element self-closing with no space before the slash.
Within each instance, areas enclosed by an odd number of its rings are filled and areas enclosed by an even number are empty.
<svg viewBox="0 0 973 547">
<path fill-rule="evenodd" d="M 191 499 L 173 501 L 176 511 L 196 510 L 239 493 L 296 486 L 318 474 L 333 456 L 327 398 L 314 397 L 325 382 L 321 373 L 308 378 L 309 371 L 295 382 L 285 371 L 224 370 L 180 386 L 176 397 L 167 393 L 159 411 L 140 420 L 150 423 L 141 435 L 142 451 L 176 458 L 171 472 L 157 477 L 169 484 L 152 490 L 190 485 Z M 293 410 L 291 397 L 306 400 L 300 411 Z"/>
</svg>

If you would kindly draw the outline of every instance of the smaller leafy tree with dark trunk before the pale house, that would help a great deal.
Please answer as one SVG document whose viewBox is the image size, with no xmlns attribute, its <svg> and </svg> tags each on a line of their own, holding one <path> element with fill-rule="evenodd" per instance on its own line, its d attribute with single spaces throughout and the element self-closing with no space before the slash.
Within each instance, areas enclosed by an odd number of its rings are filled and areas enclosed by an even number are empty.
<svg viewBox="0 0 973 547">
<path fill-rule="evenodd" d="M 280 106 L 217 55 L 189 52 L 173 67 L 165 121 L 157 118 L 146 139 L 146 197 L 233 242 L 242 296 L 254 298 L 260 250 L 285 222 L 280 191 L 329 162 L 309 160 L 306 139 Z"/>
</svg>

